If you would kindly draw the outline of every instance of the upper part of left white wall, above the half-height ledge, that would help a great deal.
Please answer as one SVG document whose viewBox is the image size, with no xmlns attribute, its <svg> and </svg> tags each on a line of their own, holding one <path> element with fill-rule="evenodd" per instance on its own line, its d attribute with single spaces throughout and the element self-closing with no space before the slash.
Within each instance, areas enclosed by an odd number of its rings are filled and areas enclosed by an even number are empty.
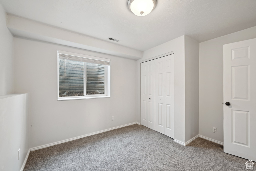
<svg viewBox="0 0 256 171">
<path fill-rule="evenodd" d="M 0 95 L 13 93 L 13 36 L 6 27 L 6 16 L 0 4 Z"/>
</svg>

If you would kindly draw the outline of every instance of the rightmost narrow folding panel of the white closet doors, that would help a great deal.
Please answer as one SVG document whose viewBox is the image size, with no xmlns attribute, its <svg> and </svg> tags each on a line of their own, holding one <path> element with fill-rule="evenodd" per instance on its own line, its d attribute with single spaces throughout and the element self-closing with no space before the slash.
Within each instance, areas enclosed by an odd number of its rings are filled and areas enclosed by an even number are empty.
<svg viewBox="0 0 256 171">
<path fill-rule="evenodd" d="M 164 57 L 164 134 L 174 138 L 174 55 Z"/>
</svg>

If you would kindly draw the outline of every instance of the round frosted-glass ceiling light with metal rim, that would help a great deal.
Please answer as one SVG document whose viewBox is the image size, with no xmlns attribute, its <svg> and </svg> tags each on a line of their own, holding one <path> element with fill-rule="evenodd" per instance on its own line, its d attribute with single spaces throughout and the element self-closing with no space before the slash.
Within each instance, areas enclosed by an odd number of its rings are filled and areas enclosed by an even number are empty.
<svg viewBox="0 0 256 171">
<path fill-rule="evenodd" d="M 145 16 L 156 7 L 156 0 L 128 0 L 128 9 L 137 16 Z"/>
</svg>

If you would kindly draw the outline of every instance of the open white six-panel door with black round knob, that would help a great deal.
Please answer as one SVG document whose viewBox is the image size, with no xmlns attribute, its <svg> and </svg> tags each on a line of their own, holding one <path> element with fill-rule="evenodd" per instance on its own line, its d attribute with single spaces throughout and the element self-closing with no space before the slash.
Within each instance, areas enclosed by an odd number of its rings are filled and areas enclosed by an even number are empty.
<svg viewBox="0 0 256 171">
<path fill-rule="evenodd" d="M 223 45 L 223 93 L 224 152 L 256 161 L 256 39 Z"/>
</svg>

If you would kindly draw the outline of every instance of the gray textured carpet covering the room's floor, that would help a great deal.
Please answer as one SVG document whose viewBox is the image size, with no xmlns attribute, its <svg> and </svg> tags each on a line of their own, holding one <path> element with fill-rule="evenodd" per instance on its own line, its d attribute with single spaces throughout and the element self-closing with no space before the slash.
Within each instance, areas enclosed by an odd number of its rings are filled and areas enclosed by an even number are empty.
<svg viewBox="0 0 256 171">
<path fill-rule="evenodd" d="M 222 145 L 202 138 L 182 146 L 135 124 L 32 151 L 24 171 L 248 170 L 244 164 L 247 161 L 224 153 Z"/>
</svg>

